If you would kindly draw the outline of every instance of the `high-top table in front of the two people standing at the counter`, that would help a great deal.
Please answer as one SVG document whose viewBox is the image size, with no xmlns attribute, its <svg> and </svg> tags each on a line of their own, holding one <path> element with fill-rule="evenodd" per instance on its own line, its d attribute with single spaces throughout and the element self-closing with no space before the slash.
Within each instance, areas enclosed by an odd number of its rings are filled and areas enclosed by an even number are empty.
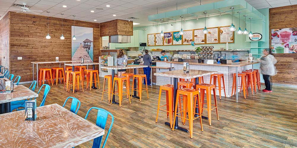
<svg viewBox="0 0 297 148">
<path fill-rule="evenodd" d="M 134 75 L 135 75 L 135 74 L 137 74 L 136 73 L 137 68 L 144 68 L 144 67 L 148 67 L 148 66 L 146 66 L 146 65 L 127 65 L 127 66 L 118 65 L 118 66 L 104 66 L 104 67 L 107 68 L 107 69 L 111 69 L 111 76 L 112 76 L 111 86 L 113 86 L 114 70 L 118 70 L 118 69 L 134 69 L 133 71 L 134 71 Z M 138 83 L 141 83 L 141 82 L 138 82 Z M 136 95 L 136 90 L 135 90 L 135 88 L 136 88 L 136 79 L 134 80 L 133 88 L 134 88 L 134 95 L 131 94 L 132 97 L 139 99 L 139 97 Z M 114 90 L 113 90 L 112 93 L 114 93 Z M 112 95 L 112 103 L 119 104 L 118 102 L 116 102 L 114 100 L 114 98 L 115 98 L 115 95 L 113 94 Z M 110 102 L 108 102 L 108 103 L 110 103 Z"/>
</svg>

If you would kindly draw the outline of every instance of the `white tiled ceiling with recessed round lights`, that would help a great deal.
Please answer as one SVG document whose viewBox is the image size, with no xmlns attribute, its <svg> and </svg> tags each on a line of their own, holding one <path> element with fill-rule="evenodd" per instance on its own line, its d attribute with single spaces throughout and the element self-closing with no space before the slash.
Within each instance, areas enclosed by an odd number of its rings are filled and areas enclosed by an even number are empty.
<svg viewBox="0 0 297 148">
<path fill-rule="evenodd" d="M 221 0 L 201 0 L 201 4 L 208 4 Z M 297 4 L 297 0 L 246 0 L 256 9 L 273 8 L 287 5 Z M 137 26 L 147 26 L 152 24 L 148 21 L 148 15 L 157 14 L 176 10 L 176 3 L 178 9 L 193 7 L 200 5 L 200 0 L 0 0 L 0 19 L 8 12 L 7 9 L 12 8 L 12 4 L 27 3 L 30 9 L 42 10 L 40 15 L 61 17 L 73 19 L 72 15 L 76 15 L 75 20 L 88 22 L 106 22 L 115 19 L 126 20 L 129 17 L 139 18 L 134 20 L 140 23 Z M 66 5 L 67 8 L 62 7 Z M 110 7 L 106 7 L 110 5 Z M 96 10 L 102 8 L 103 10 Z M 94 12 L 90 12 L 94 10 Z M 116 15 L 114 17 L 113 15 Z M 97 21 L 94 21 L 97 20 Z"/>
</svg>

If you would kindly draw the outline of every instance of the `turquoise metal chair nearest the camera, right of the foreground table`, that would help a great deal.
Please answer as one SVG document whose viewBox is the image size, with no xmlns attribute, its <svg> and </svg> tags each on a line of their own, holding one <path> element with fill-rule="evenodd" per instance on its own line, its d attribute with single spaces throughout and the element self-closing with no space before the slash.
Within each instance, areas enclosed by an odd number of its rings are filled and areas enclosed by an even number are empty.
<svg viewBox="0 0 297 148">
<path fill-rule="evenodd" d="M 104 110 L 104 109 L 102 109 L 102 108 L 91 107 L 91 108 L 89 109 L 89 111 L 87 112 L 85 119 L 87 119 L 87 117 L 88 117 L 88 115 L 89 115 L 89 112 L 90 112 L 92 109 L 97 109 L 97 110 L 98 110 L 98 113 L 97 113 L 97 120 L 96 120 L 96 125 L 99 126 L 99 127 L 102 128 L 102 129 L 105 129 L 105 125 L 106 125 L 106 120 L 107 120 L 108 114 L 109 114 L 109 115 L 111 116 L 111 118 L 112 118 L 111 123 L 110 123 L 110 127 L 109 127 L 109 129 L 108 129 L 108 133 L 106 134 L 106 137 L 105 137 L 105 140 L 104 140 L 104 143 L 103 143 L 103 146 L 102 146 L 102 147 L 104 147 L 104 146 L 105 146 L 105 143 L 106 143 L 106 141 L 107 141 L 108 135 L 109 135 L 109 133 L 110 133 L 111 127 L 112 127 L 112 125 L 113 125 L 113 120 L 114 120 L 114 118 L 113 118 L 113 115 L 112 115 L 110 112 L 108 112 L 108 111 L 106 111 L 106 110 Z M 100 137 L 97 137 L 97 138 L 94 139 L 93 147 L 100 147 L 100 146 L 101 146 L 102 137 L 103 137 L 103 136 L 100 136 Z"/>
</svg>

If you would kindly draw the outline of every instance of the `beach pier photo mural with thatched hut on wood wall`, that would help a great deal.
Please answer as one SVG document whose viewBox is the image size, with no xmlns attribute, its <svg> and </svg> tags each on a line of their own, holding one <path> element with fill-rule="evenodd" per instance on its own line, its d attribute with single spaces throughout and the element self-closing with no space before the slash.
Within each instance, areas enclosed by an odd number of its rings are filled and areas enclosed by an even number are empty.
<svg viewBox="0 0 297 148">
<path fill-rule="evenodd" d="M 74 26 L 71 27 L 72 35 L 74 35 Z M 75 26 L 76 40 L 72 40 L 72 61 L 93 62 L 93 28 Z"/>
</svg>

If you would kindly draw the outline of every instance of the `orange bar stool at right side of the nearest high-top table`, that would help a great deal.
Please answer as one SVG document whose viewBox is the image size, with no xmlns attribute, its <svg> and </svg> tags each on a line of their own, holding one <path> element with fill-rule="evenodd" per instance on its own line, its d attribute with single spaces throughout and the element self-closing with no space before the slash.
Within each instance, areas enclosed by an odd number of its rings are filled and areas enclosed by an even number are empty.
<svg viewBox="0 0 297 148">
<path fill-rule="evenodd" d="M 216 96 L 216 86 L 214 84 L 207 84 L 207 83 L 201 83 L 196 85 L 196 89 L 200 91 L 201 94 L 201 115 L 203 113 L 203 110 L 207 110 L 208 112 L 208 121 L 209 125 L 211 126 L 211 110 L 216 109 L 217 110 L 217 117 L 219 120 L 219 114 L 218 114 L 218 106 L 217 106 L 217 96 Z M 207 109 L 203 108 L 204 104 L 204 92 L 206 91 L 206 104 Z M 211 104 L 211 91 L 214 93 L 214 105 Z M 199 104 L 199 103 L 198 103 Z M 211 106 L 215 106 L 214 108 L 211 108 Z"/>
</svg>

